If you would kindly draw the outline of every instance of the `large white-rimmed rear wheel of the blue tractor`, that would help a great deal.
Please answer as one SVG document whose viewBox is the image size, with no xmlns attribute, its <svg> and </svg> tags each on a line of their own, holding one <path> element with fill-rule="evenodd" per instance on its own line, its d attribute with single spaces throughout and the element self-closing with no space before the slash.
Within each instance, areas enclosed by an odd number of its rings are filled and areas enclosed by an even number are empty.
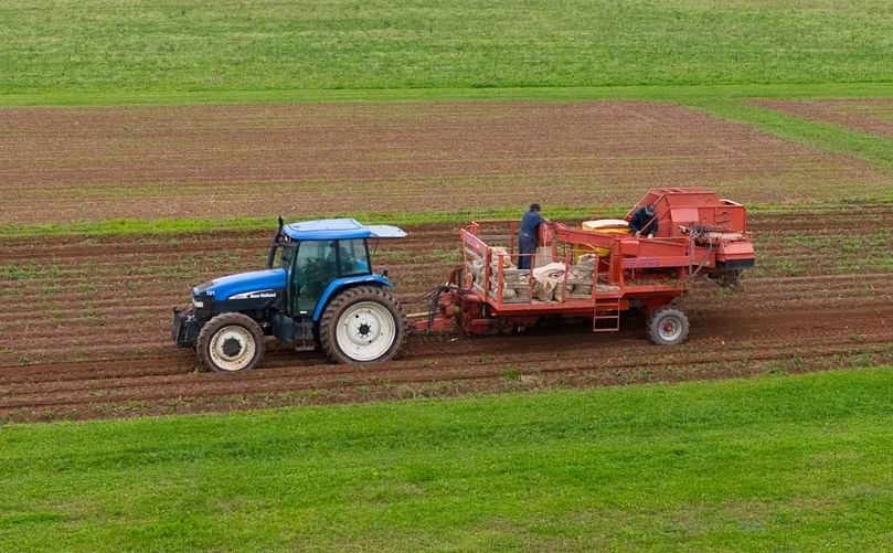
<svg viewBox="0 0 893 553">
<path fill-rule="evenodd" d="M 408 326 L 400 301 L 386 288 L 357 286 L 326 306 L 319 341 L 336 363 L 375 363 L 400 354 Z"/>
</svg>

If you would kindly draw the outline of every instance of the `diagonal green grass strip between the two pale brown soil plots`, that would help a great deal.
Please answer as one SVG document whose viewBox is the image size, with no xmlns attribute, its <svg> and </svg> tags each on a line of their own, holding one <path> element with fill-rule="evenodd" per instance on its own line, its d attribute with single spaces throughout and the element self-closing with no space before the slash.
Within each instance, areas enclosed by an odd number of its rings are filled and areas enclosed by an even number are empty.
<svg viewBox="0 0 893 553">
<path fill-rule="evenodd" d="M 685 105 L 730 121 L 744 123 L 762 132 L 831 153 L 876 163 L 893 171 L 893 139 L 868 135 L 840 125 L 815 121 L 746 100 L 691 100 Z M 891 187 L 893 192 L 893 185 Z"/>
</svg>

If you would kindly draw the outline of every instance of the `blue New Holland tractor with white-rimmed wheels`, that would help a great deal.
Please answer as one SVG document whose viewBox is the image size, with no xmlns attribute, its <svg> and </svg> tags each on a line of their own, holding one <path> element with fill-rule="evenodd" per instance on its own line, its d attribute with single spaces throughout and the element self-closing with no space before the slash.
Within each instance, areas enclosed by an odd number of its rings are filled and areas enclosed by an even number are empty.
<svg viewBox="0 0 893 553">
<path fill-rule="evenodd" d="M 396 226 L 353 219 L 284 225 L 279 217 L 266 269 L 195 287 L 192 309 L 173 310 L 172 339 L 223 372 L 256 366 L 268 336 L 298 351 L 321 347 L 339 363 L 392 359 L 408 325 L 387 270 L 372 272 L 369 247 L 404 236 Z"/>
</svg>

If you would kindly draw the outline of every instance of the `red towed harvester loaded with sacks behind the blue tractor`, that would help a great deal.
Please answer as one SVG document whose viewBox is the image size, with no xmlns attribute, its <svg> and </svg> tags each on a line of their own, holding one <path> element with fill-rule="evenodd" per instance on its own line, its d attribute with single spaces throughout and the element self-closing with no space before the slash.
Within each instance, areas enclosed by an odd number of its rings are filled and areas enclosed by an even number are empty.
<svg viewBox="0 0 893 553">
<path fill-rule="evenodd" d="M 625 228 L 642 205 L 658 220 L 650 238 Z M 744 206 L 701 189 L 651 190 L 625 221 L 545 223 L 531 270 L 517 268 L 514 231 L 504 222 L 460 231 L 463 265 L 435 290 L 416 330 L 513 333 L 545 318 L 586 318 L 596 332 L 617 331 L 620 313 L 637 309 L 651 341 L 670 345 L 688 336 L 688 317 L 672 302 L 694 277 L 733 287 L 754 266 Z"/>
</svg>

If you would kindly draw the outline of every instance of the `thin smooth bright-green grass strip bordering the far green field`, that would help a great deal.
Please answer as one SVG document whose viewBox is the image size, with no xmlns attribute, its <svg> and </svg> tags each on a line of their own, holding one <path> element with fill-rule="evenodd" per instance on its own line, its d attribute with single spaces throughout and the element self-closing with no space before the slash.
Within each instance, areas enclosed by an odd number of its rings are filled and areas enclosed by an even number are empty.
<svg viewBox="0 0 893 553">
<path fill-rule="evenodd" d="M 41 92 L 0 94 L 2 107 L 190 106 L 403 100 L 544 100 L 642 99 L 689 102 L 723 98 L 875 98 L 893 97 L 893 83 L 656 85 L 515 88 L 376 88 L 198 92 Z"/>
</svg>

